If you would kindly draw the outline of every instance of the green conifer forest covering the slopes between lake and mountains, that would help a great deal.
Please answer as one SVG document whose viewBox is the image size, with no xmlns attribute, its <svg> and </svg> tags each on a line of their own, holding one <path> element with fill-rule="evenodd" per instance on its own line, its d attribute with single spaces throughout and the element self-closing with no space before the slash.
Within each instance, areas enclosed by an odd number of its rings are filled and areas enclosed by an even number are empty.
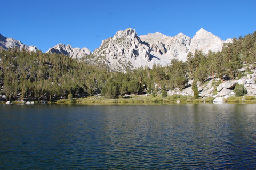
<svg viewBox="0 0 256 170">
<path fill-rule="evenodd" d="M 209 78 L 222 80 L 241 76 L 238 69 L 256 62 L 256 32 L 233 38 L 221 52 L 205 55 L 201 50 L 188 53 L 187 61 L 173 59 L 167 66 L 141 67 L 126 73 L 113 72 L 106 65 L 90 65 L 62 54 L 27 52 L 9 48 L 0 52 L 1 95 L 7 100 L 67 99 L 101 94 L 117 98 L 124 94 L 148 93 L 188 86 L 189 80 L 206 82 Z M 197 90 L 193 84 L 194 92 Z M 198 94 L 195 94 L 197 96 Z"/>
</svg>

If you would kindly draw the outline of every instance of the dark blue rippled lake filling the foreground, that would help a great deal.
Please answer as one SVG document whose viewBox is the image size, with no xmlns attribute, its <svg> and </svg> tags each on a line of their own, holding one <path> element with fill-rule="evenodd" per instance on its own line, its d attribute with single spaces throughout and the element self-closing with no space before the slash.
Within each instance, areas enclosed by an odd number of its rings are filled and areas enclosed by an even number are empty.
<svg viewBox="0 0 256 170">
<path fill-rule="evenodd" d="M 256 168 L 256 104 L 0 105 L 0 169 L 198 168 Z"/>
</svg>

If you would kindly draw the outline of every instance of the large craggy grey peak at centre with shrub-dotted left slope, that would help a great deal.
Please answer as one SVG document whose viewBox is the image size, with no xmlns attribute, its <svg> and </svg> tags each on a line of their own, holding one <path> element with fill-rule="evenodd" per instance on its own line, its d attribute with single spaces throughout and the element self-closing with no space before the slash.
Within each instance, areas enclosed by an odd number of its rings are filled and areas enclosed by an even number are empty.
<svg viewBox="0 0 256 170">
<path fill-rule="evenodd" d="M 94 60 L 104 62 L 116 71 L 152 66 L 150 47 L 137 36 L 135 29 L 119 30 L 114 37 L 103 40 L 92 53 Z"/>
</svg>

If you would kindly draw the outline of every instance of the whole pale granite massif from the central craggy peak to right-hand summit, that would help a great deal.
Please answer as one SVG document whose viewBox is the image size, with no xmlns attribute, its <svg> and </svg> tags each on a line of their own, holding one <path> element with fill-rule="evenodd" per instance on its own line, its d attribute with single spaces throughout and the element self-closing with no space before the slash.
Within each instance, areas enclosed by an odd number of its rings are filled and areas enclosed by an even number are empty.
<svg viewBox="0 0 256 170">
<path fill-rule="evenodd" d="M 186 61 L 188 52 L 194 53 L 196 49 L 205 54 L 212 50 L 217 52 L 224 43 L 219 37 L 201 28 L 196 35 L 190 37 L 179 33 L 174 37 L 159 32 L 138 36 L 135 29 L 119 30 L 114 37 L 102 41 L 90 57 L 94 61 L 107 63 L 116 71 L 161 64 L 166 66 L 172 59 Z"/>
</svg>

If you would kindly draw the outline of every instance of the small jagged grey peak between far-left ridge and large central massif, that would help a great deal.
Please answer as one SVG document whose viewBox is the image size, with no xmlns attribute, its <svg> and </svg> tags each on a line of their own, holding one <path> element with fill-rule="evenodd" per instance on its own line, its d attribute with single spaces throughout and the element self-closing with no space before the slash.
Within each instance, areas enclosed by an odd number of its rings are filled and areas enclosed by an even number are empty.
<svg viewBox="0 0 256 170">
<path fill-rule="evenodd" d="M 47 50 L 46 53 L 57 53 L 57 54 L 65 54 L 69 55 L 72 58 L 81 59 L 83 56 L 87 56 L 91 54 L 90 50 L 86 47 L 84 48 L 73 48 L 71 45 L 57 44 L 54 47 L 51 47 Z"/>
</svg>

